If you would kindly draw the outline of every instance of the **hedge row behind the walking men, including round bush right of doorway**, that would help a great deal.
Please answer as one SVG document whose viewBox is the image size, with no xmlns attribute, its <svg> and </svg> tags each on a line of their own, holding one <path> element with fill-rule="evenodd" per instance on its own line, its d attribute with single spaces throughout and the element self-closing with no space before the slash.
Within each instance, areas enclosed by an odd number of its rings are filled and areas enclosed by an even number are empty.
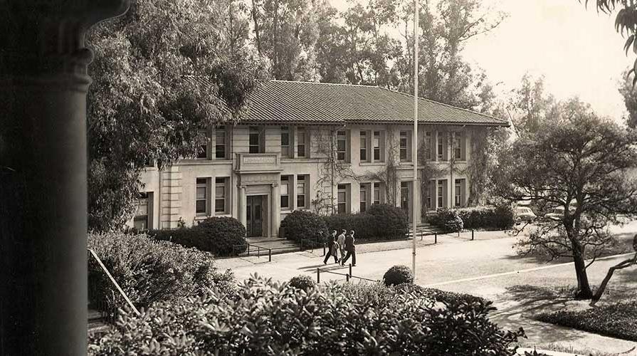
<svg viewBox="0 0 637 356">
<path fill-rule="evenodd" d="M 286 239 L 325 239 L 336 230 L 354 230 L 357 240 L 404 239 L 409 231 L 409 222 L 405 212 L 387 204 L 374 204 L 366 212 L 357 214 L 338 214 L 319 216 L 310 211 L 293 211 L 281 222 Z"/>
</svg>

